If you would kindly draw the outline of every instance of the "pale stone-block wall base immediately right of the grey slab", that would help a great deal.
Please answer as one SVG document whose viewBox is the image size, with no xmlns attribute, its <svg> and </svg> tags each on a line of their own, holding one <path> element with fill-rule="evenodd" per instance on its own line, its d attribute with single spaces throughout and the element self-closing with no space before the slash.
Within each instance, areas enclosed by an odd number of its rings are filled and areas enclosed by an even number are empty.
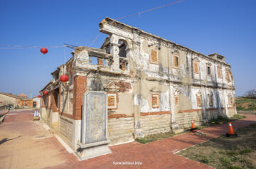
<svg viewBox="0 0 256 169">
<path fill-rule="evenodd" d="M 107 137 L 111 141 L 110 145 L 134 141 L 133 131 L 134 117 L 108 119 Z"/>
</svg>

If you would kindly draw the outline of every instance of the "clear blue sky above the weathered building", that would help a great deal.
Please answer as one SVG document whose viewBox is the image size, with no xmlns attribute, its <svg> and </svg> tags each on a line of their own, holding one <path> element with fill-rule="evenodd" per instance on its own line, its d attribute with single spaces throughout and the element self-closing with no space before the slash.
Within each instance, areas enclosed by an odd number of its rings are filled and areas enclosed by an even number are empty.
<svg viewBox="0 0 256 169">
<path fill-rule="evenodd" d="M 173 1 L 0 0 L 0 45 L 88 46 L 100 21 Z M 208 55 L 220 53 L 232 65 L 236 94 L 256 87 L 256 1 L 185 0 L 119 21 Z M 100 48 L 102 34 L 92 47 Z M 72 50 L 66 50 L 66 60 Z M 0 92 L 35 97 L 64 62 L 64 48 L 0 49 Z M 31 94 L 30 94 L 31 93 Z"/>
</svg>

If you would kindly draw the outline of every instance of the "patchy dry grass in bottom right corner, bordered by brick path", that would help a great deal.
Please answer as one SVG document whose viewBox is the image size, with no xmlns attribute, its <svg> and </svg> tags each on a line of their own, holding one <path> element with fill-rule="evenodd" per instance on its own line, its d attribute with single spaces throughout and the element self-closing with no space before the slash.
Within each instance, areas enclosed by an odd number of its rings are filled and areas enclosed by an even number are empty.
<svg viewBox="0 0 256 169">
<path fill-rule="evenodd" d="M 238 137 L 220 136 L 179 152 L 181 156 L 214 168 L 256 168 L 256 124 L 236 131 Z"/>
</svg>

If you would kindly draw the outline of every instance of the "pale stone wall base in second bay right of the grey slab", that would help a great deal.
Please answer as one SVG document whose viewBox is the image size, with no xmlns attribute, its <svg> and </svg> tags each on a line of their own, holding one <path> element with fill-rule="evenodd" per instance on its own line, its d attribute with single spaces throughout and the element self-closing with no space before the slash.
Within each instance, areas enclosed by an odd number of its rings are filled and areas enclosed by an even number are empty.
<svg viewBox="0 0 256 169">
<path fill-rule="evenodd" d="M 148 116 L 142 114 L 139 121 L 141 122 L 141 127 L 145 136 L 171 131 L 171 114 L 154 114 Z"/>
</svg>

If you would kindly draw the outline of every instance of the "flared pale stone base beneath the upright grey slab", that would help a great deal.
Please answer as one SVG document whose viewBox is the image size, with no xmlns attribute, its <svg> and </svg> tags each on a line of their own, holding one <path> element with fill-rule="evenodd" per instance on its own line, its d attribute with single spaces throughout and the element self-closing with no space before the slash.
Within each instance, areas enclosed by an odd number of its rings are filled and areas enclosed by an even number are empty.
<svg viewBox="0 0 256 169">
<path fill-rule="evenodd" d="M 97 156 L 112 153 L 110 148 L 107 146 L 108 143 L 110 143 L 110 141 L 100 141 L 97 143 L 88 144 L 78 143 L 81 151 L 76 152 L 76 154 L 78 155 L 79 160 L 87 160 L 89 158 L 95 158 Z"/>
</svg>

